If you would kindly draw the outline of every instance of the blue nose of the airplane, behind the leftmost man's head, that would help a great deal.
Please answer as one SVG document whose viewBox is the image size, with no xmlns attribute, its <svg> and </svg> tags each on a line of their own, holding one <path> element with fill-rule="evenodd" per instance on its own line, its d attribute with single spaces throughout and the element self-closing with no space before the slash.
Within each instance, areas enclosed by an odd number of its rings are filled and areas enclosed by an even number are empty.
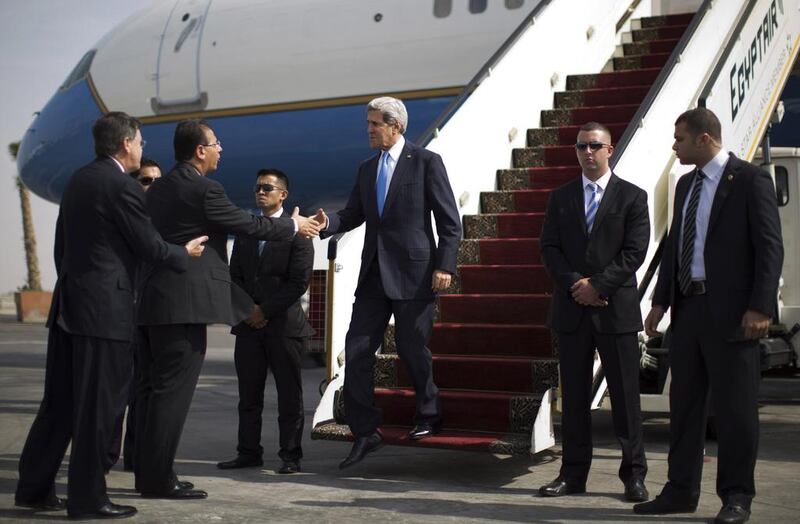
<svg viewBox="0 0 800 524">
<path fill-rule="evenodd" d="M 94 158 L 92 124 L 101 115 L 86 79 L 60 89 L 34 119 L 17 155 L 31 191 L 58 203 L 67 180 Z"/>
</svg>

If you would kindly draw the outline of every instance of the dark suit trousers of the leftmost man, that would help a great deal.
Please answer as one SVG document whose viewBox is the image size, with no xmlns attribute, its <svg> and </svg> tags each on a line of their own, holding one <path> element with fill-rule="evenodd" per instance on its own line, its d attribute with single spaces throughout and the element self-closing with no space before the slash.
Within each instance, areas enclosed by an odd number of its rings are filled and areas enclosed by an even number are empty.
<svg viewBox="0 0 800 524">
<path fill-rule="evenodd" d="M 103 466 L 130 380 L 129 342 L 50 328 L 44 397 L 20 457 L 17 500 L 38 502 L 55 493 L 72 441 L 69 510 L 93 512 L 108 502 Z"/>
</svg>

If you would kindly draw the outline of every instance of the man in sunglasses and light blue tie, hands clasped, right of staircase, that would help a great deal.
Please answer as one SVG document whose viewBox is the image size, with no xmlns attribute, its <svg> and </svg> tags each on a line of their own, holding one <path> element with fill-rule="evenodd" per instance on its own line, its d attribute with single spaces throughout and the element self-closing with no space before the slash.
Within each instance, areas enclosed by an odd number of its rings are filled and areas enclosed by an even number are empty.
<svg viewBox="0 0 800 524">
<path fill-rule="evenodd" d="M 600 353 L 611 394 L 614 433 L 622 447 L 625 499 L 647 500 L 647 462 L 639 404 L 642 314 L 636 270 L 650 240 L 647 194 L 609 168 L 611 133 L 589 122 L 575 144 L 583 175 L 550 195 L 540 238 L 555 289 L 549 325 L 558 338 L 563 456 L 543 496 L 586 491 L 592 463 L 592 366 Z"/>
</svg>

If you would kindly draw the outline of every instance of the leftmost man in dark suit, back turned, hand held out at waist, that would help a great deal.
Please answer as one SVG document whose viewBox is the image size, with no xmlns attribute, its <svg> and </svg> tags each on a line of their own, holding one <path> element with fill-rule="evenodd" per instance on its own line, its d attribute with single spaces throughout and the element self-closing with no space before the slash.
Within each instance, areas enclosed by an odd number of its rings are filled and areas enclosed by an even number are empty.
<svg viewBox="0 0 800 524">
<path fill-rule="evenodd" d="M 185 248 L 159 237 L 142 190 L 127 172 L 137 169 L 144 141 L 139 122 L 108 113 L 92 128 L 97 159 L 67 183 L 56 224 L 58 281 L 47 326 L 44 398 L 19 463 L 16 504 L 65 507 L 55 477 L 72 441 L 67 512 L 75 518 L 120 518 L 136 513 L 106 494 L 104 461 L 114 422 L 131 380 L 133 282 L 140 261 L 180 274 L 205 237 Z M 198 236 L 198 235 L 195 235 Z M 190 237 L 184 241 L 189 240 Z"/>
</svg>

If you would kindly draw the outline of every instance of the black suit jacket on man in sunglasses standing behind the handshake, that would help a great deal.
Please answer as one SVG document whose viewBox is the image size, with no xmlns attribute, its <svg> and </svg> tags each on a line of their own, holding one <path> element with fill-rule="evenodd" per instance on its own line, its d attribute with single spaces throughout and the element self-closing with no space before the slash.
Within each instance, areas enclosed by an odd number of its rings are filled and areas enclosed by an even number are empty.
<svg viewBox="0 0 800 524">
<path fill-rule="evenodd" d="M 308 337 L 314 330 L 300 306 L 314 267 L 314 245 L 295 235 L 292 240 L 267 242 L 261 255 L 258 240 L 237 237 L 231 254 L 231 279 L 259 305 L 267 318 L 262 330 L 276 337 Z M 244 322 L 231 333 L 256 333 Z"/>
</svg>

